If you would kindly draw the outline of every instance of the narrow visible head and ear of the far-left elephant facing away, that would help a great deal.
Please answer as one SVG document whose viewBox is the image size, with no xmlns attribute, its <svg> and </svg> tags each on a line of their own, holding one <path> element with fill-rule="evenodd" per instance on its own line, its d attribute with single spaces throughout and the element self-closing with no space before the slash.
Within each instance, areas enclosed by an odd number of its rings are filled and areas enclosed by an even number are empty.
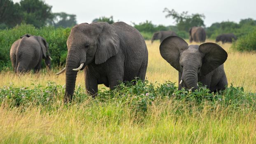
<svg viewBox="0 0 256 144">
<path fill-rule="evenodd" d="M 49 52 L 49 44 L 43 37 L 37 36 L 37 40 L 42 48 L 44 63 L 49 69 L 51 69 L 51 56 Z"/>
</svg>

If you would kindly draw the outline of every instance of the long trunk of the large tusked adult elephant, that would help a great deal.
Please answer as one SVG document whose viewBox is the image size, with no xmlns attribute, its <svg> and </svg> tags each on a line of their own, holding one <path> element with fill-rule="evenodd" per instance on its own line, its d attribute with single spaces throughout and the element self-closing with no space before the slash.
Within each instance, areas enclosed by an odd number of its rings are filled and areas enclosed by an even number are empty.
<svg viewBox="0 0 256 144">
<path fill-rule="evenodd" d="M 77 71 L 73 69 L 79 66 L 79 57 L 73 51 L 69 51 L 67 54 L 66 60 L 66 90 L 65 90 L 65 98 L 64 102 L 72 101 L 72 97 L 74 94 L 74 88 L 76 84 Z"/>
</svg>

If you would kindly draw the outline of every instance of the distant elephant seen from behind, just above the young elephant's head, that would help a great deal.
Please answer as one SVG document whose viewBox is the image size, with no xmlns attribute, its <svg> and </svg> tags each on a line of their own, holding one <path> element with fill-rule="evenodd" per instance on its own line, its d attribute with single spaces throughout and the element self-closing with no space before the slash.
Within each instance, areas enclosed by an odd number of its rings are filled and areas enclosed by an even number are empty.
<svg viewBox="0 0 256 144">
<path fill-rule="evenodd" d="M 202 27 L 192 27 L 189 30 L 189 42 L 205 42 L 206 33 Z"/>
</svg>

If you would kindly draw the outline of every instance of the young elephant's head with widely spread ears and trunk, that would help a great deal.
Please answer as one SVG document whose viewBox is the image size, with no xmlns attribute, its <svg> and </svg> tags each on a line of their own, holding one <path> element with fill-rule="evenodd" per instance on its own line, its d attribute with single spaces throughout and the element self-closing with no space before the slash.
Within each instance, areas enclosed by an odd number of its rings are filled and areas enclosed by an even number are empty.
<svg viewBox="0 0 256 144">
<path fill-rule="evenodd" d="M 186 88 L 198 89 L 198 77 L 204 76 L 222 65 L 228 54 L 215 43 L 188 45 L 182 38 L 171 36 L 160 45 L 161 56 L 182 73 Z"/>
</svg>

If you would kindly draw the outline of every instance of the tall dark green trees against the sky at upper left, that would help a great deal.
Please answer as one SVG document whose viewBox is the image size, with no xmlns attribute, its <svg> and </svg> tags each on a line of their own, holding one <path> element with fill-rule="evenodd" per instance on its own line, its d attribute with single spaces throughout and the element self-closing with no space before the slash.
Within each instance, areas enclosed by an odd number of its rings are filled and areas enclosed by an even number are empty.
<svg viewBox="0 0 256 144">
<path fill-rule="evenodd" d="M 42 26 L 72 27 L 77 24 L 76 15 L 52 13 L 52 6 L 42 0 L 0 0 L 0 29 L 12 28 L 21 23 Z"/>
</svg>

